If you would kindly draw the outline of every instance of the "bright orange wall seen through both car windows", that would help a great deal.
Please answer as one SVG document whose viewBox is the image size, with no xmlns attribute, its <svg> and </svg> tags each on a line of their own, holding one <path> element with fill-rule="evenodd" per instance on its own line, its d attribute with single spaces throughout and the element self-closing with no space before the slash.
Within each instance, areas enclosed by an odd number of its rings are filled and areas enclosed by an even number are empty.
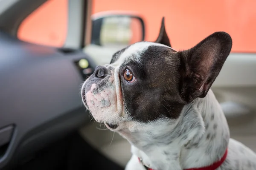
<svg viewBox="0 0 256 170">
<path fill-rule="evenodd" d="M 61 47 L 67 33 L 67 0 L 48 0 L 20 26 L 18 37 L 29 42 Z M 146 40 L 154 41 L 160 20 L 172 46 L 191 48 L 215 31 L 233 38 L 233 52 L 256 52 L 255 0 L 93 0 L 93 14 L 100 11 L 140 12 Z"/>
</svg>

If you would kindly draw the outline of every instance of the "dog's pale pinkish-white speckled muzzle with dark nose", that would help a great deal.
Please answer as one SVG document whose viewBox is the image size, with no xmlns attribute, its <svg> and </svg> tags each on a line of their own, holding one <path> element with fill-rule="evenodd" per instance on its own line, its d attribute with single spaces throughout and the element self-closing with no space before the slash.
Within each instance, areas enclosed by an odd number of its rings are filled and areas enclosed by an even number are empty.
<svg viewBox="0 0 256 170">
<path fill-rule="evenodd" d="M 119 85 L 118 85 L 118 88 Z M 114 68 L 111 65 L 97 66 L 82 87 L 84 105 L 97 122 L 104 122 L 110 129 L 117 127 L 120 111 L 117 109 Z"/>
</svg>

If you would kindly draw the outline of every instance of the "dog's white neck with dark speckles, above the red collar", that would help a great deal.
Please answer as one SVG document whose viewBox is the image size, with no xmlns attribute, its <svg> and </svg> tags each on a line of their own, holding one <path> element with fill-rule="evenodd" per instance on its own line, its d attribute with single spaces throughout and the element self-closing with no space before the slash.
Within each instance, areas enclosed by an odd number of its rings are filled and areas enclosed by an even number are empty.
<svg viewBox="0 0 256 170">
<path fill-rule="evenodd" d="M 154 127 L 152 126 L 154 125 Z M 224 155 L 230 133 L 214 94 L 185 105 L 179 120 L 158 120 L 143 133 L 124 135 L 132 152 L 155 170 L 205 167 Z"/>
</svg>

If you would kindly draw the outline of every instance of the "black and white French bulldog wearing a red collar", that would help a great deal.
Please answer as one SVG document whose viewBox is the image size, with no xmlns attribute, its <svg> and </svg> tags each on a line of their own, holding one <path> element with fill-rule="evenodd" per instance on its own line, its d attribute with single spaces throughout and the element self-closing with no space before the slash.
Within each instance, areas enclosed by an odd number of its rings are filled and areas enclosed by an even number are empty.
<svg viewBox="0 0 256 170">
<path fill-rule="evenodd" d="M 230 139 L 210 87 L 232 39 L 215 32 L 175 51 L 164 17 L 155 42 L 137 42 L 97 66 L 81 89 L 97 122 L 131 144 L 125 170 L 256 170 L 256 154 Z"/>
</svg>

